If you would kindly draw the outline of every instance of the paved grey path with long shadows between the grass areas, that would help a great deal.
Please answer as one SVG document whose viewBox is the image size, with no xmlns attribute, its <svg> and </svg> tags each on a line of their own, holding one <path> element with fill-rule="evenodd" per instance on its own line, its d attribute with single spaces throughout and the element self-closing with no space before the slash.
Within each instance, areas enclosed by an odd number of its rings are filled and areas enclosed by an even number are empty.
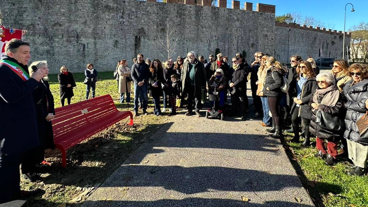
<svg viewBox="0 0 368 207">
<path fill-rule="evenodd" d="M 188 117 L 183 111 L 82 207 L 314 206 L 280 140 L 266 137 L 260 123 Z"/>
</svg>

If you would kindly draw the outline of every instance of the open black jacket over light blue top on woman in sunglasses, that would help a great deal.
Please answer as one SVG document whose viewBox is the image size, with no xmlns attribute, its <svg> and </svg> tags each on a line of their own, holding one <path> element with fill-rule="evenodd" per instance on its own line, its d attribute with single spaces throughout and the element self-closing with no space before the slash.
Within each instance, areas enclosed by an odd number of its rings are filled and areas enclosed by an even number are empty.
<svg viewBox="0 0 368 207">
<path fill-rule="evenodd" d="M 316 92 L 317 86 L 318 84 L 315 78 L 310 78 L 304 83 L 301 89 L 301 95 L 300 95 L 300 100 L 303 103 L 301 103 L 299 106 L 299 112 L 298 112 L 299 117 L 304 118 L 304 119 L 312 118 L 312 108 L 309 105 L 309 101 L 313 97 L 313 94 Z M 293 100 L 295 97 L 297 97 L 297 94 L 292 94 L 290 96 L 291 100 Z M 297 104 L 293 101 L 293 105 L 291 106 L 291 113 L 293 113 L 296 106 Z"/>
</svg>

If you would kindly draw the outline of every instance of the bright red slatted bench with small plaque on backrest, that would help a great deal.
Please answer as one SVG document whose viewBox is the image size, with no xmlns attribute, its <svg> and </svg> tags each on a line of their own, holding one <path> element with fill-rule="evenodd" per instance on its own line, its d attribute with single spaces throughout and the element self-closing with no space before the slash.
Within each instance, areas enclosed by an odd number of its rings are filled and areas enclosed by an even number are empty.
<svg viewBox="0 0 368 207">
<path fill-rule="evenodd" d="M 67 166 L 66 150 L 120 120 L 130 116 L 130 111 L 117 110 L 110 95 L 88 99 L 55 109 L 52 120 L 55 147 L 61 151 L 62 164 Z"/>
</svg>

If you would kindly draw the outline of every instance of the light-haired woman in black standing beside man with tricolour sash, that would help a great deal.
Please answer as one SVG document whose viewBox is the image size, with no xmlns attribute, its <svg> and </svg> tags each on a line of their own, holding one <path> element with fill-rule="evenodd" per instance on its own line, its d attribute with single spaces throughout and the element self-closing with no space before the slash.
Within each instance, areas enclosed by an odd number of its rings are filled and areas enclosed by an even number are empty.
<svg viewBox="0 0 368 207">
<path fill-rule="evenodd" d="M 34 72 L 32 66 L 36 66 L 37 70 L 43 73 L 43 78 L 40 80 L 38 88 L 32 93 L 36 109 L 40 145 L 26 152 L 22 160 L 22 174 L 24 179 L 36 182 L 40 180 L 40 176 L 36 174 L 37 165 L 51 165 L 46 162 L 44 158 L 45 149 L 54 148 L 52 123 L 50 121 L 55 117 L 55 109 L 54 97 L 50 91 L 49 82 L 47 81 L 47 75 L 49 74 L 47 62 L 42 60 L 31 63 L 28 67 L 29 74 Z"/>
</svg>

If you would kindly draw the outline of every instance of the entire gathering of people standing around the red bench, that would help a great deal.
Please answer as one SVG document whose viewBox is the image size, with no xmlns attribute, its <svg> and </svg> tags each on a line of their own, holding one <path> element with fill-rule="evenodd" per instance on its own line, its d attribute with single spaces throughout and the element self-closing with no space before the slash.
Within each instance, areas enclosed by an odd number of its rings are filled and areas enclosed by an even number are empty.
<svg viewBox="0 0 368 207">
<path fill-rule="evenodd" d="M 36 173 L 46 162 L 45 149 L 54 148 L 52 123 L 54 99 L 48 83 L 46 61 L 28 65 L 30 45 L 19 39 L 8 41 L 0 60 L 0 203 L 19 199 L 32 192 L 20 190 L 19 165 L 24 179 L 40 180 Z M 229 59 L 230 60 L 230 59 Z M 114 77 L 120 103 L 130 103 L 134 91 L 134 115 L 139 109 L 147 114 L 148 97 L 152 97 L 156 116 L 176 115 L 185 108 L 187 116 L 201 116 L 207 97 L 218 95 L 216 107 L 229 117 L 246 119 L 254 106 L 254 118 L 262 119 L 260 127 L 271 138 L 283 138 L 283 130 L 294 133 L 290 140 L 302 147 L 315 138 L 318 158 L 333 165 L 339 157 L 353 163 L 348 175 L 365 175 L 368 159 L 368 66 L 337 59 L 329 73 L 319 73 L 312 57 L 302 60 L 290 57 L 283 66 L 275 57 L 263 52 L 254 54 L 248 64 L 241 53 L 228 63 L 222 53 L 197 59 L 195 52 L 161 62 L 144 60 L 138 54 L 132 67 L 123 59 L 117 63 Z M 250 76 L 248 76 L 250 74 Z M 98 72 L 88 63 L 85 69 L 85 99 L 95 97 Z M 253 103 L 247 96 L 248 77 Z M 61 105 L 71 104 L 76 87 L 66 66 L 58 74 Z M 131 88 L 131 85 L 133 87 Z M 228 100 L 228 94 L 230 99 Z M 163 104 L 161 104 L 163 101 Z M 230 104 L 231 103 L 231 104 Z M 230 107 L 228 107 L 230 105 Z M 288 124 L 290 129 L 286 129 Z M 21 130 L 20 130 L 21 129 Z M 338 150 L 340 147 L 340 150 Z"/>
</svg>

